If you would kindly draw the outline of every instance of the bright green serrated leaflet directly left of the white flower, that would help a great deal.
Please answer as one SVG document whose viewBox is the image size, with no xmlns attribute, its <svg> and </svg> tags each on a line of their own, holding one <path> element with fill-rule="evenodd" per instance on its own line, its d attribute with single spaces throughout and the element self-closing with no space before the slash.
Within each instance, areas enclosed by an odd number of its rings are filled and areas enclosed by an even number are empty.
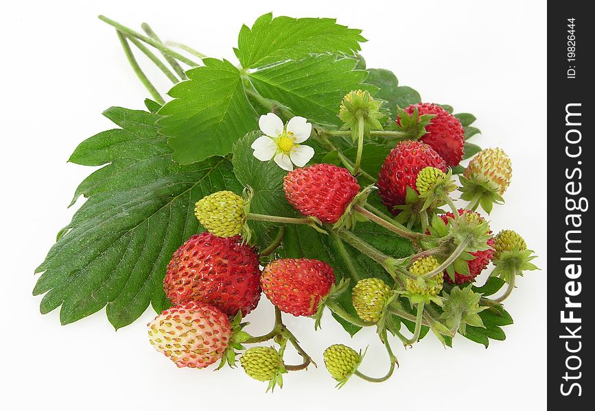
<svg viewBox="0 0 595 411">
<path fill-rule="evenodd" d="M 168 93 L 159 125 L 169 137 L 174 160 L 180 164 L 226 155 L 233 143 L 258 128 L 254 110 L 242 86 L 240 71 L 227 60 L 205 58 L 205 66 L 186 72 L 188 81 Z"/>
</svg>

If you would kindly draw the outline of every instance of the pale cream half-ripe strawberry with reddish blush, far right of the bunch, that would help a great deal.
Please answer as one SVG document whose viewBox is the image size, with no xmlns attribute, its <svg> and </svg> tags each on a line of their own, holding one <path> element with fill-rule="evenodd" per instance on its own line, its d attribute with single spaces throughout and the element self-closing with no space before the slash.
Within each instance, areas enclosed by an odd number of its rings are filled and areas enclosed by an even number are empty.
<svg viewBox="0 0 595 411">
<path fill-rule="evenodd" d="M 495 148 L 480 151 L 469 162 L 463 175 L 476 182 L 486 182 L 490 188 L 502 195 L 511 184 L 512 173 L 509 156 L 504 150 Z"/>
</svg>

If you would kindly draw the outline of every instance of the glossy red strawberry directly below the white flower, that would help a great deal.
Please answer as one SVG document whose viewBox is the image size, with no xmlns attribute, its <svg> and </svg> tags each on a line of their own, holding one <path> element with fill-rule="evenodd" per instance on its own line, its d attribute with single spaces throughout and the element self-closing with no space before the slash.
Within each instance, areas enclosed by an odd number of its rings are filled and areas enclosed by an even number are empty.
<svg viewBox="0 0 595 411">
<path fill-rule="evenodd" d="M 360 184 L 347 169 L 314 164 L 285 175 L 283 189 L 287 201 L 301 214 L 334 224 L 360 191 Z"/>
</svg>

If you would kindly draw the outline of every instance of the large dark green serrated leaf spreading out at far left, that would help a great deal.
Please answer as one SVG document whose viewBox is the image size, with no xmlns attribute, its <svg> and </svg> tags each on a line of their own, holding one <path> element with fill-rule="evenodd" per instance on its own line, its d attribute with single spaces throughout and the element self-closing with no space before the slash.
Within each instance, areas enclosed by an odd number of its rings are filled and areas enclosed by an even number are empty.
<svg viewBox="0 0 595 411">
<path fill-rule="evenodd" d="M 104 115 L 122 128 L 85 140 L 71 156 L 77 164 L 106 165 L 77 189 L 76 197 L 89 198 L 36 269 L 43 275 L 34 295 L 45 293 L 43 314 L 61 306 L 62 324 L 106 307 L 117 329 L 150 303 L 157 312 L 170 305 L 161 282 L 172 253 L 200 231 L 194 203 L 213 191 L 242 188 L 224 158 L 173 162 L 156 126 L 159 116 L 124 108 Z"/>
</svg>

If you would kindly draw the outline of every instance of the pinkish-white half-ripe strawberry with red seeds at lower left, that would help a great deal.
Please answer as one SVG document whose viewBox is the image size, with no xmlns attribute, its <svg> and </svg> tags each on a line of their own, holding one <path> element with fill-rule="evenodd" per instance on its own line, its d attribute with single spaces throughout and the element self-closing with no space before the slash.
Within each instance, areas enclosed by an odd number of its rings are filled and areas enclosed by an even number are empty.
<svg viewBox="0 0 595 411">
<path fill-rule="evenodd" d="M 168 308 L 148 327 L 153 347 L 179 367 L 213 364 L 222 358 L 231 338 L 227 316 L 218 308 L 194 301 Z"/>
</svg>

